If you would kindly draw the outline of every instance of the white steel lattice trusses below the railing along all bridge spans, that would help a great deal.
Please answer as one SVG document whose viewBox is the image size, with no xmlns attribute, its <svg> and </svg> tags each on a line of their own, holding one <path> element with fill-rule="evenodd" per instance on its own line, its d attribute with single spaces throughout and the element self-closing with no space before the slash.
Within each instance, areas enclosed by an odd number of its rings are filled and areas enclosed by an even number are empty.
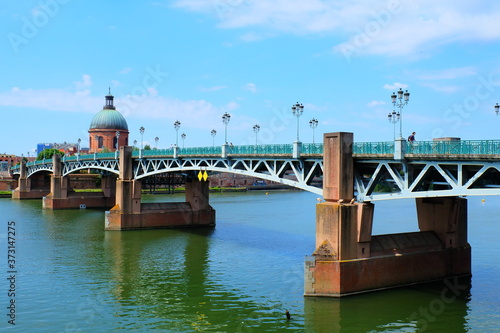
<svg viewBox="0 0 500 333">
<path fill-rule="evenodd" d="M 500 160 L 450 159 L 444 157 L 373 159 L 354 157 L 354 185 L 359 202 L 468 195 L 500 195 Z M 430 160 L 432 158 L 432 160 Z M 92 169 L 119 174 L 116 158 L 63 161 L 63 175 Z M 36 172 L 52 172 L 52 162 L 27 167 L 28 177 Z M 228 172 L 289 185 L 318 195 L 323 189 L 313 185 L 323 176 L 321 155 L 305 158 L 289 156 L 148 156 L 133 158 L 135 179 L 160 173 L 188 171 Z M 19 173 L 19 169 L 16 170 Z"/>
</svg>

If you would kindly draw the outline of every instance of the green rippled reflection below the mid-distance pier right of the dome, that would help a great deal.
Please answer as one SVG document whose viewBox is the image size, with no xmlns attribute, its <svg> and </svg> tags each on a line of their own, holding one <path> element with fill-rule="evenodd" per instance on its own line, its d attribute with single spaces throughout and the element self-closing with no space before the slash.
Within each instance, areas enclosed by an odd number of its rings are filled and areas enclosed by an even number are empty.
<svg viewBox="0 0 500 333">
<path fill-rule="evenodd" d="M 212 272 L 212 233 L 211 229 L 106 232 L 103 251 L 110 264 L 109 292 L 119 305 L 115 315 L 130 315 L 127 309 L 133 304 L 141 319 L 175 331 L 273 331 L 281 326 L 282 321 L 266 322 L 272 307 Z"/>
</svg>

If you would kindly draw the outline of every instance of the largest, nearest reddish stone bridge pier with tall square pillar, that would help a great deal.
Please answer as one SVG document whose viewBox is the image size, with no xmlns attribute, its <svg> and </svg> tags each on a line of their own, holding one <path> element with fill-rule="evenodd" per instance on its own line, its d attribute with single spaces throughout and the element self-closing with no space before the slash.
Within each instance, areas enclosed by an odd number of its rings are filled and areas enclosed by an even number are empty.
<svg viewBox="0 0 500 333">
<path fill-rule="evenodd" d="M 374 236 L 374 204 L 353 200 L 352 144 L 352 133 L 324 134 L 325 202 L 316 206 L 316 251 L 305 262 L 305 296 L 341 297 L 470 276 L 467 200 L 417 199 L 420 232 Z"/>
</svg>

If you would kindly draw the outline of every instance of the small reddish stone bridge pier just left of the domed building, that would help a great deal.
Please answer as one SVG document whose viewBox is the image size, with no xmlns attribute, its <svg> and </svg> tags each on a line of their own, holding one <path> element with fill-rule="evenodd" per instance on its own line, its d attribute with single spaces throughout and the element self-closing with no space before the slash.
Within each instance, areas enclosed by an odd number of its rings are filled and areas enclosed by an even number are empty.
<svg viewBox="0 0 500 333">
<path fill-rule="evenodd" d="M 44 209 L 109 208 L 115 200 L 115 181 L 112 175 L 101 179 L 102 192 L 74 192 L 68 176 L 62 175 L 61 156 L 52 156 L 53 173 L 50 177 L 50 193 L 43 197 Z"/>
</svg>

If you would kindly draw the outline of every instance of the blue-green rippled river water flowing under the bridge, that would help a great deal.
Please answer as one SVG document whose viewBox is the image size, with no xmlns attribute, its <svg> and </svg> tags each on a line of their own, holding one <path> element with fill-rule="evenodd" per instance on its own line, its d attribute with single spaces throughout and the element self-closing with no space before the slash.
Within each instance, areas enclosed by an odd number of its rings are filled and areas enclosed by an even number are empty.
<svg viewBox="0 0 500 333">
<path fill-rule="evenodd" d="M 0 199 L 0 330 L 500 332 L 500 197 L 469 197 L 471 281 L 342 299 L 303 297 L 316 198 L 299 191 L 211 194 L 214 229 L 127 232 L 105 232 L 100 210 L 48 211 L 41 200 Z M 376 203 L 374 234 L 408 231 L 417 231 L 413 200 Z M 8 322 L 12 300 L 15 325 Z"/>
</svg>

